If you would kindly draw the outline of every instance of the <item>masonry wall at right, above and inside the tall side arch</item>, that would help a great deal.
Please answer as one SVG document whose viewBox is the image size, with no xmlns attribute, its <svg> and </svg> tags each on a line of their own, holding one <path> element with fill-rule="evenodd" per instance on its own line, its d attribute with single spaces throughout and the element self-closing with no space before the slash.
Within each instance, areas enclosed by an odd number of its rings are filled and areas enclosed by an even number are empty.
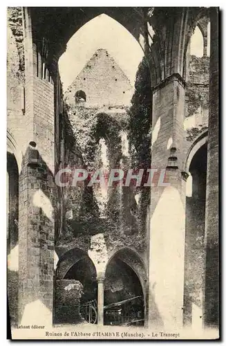
<svg viewBox="0 0 226 346">
<path fill-rule="evenodd" d="M 203 55 L 203 57 L 189 56 L 189 74 L 185 96 L 184 127 L 186 141 L 184 159 L 187 158 L 187 152 L 191 147 L 191 143 L 208 129 L 209 57 L 206 55 Z M 191 173 L 193 184 L 192 197 L 187 197 L 186 199 L 184 292 L 184 322 L 186 325 L 194 323 L 194 318 L 196 318 L 194 306 L 200 311 L 199 320 L 203 318 L 205 185 L 207 167 L 205 163 L 199 172 L 198 165 L 205 161 L 206 151 L 203 151 L 198 161 L 196 159 L 196 167 L 191 167 L 191 165 L 187 167 Z M 202 191 L 204 196 L 198 197 Z"/>
</svg>

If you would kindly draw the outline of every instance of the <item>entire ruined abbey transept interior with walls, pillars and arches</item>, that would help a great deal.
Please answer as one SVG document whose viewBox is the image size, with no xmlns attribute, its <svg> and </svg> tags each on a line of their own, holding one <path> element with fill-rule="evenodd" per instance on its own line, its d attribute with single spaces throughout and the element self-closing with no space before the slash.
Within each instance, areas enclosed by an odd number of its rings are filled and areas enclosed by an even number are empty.
<svg viewBox="0 0 226 346">
<path fill-rule="evenodd" d="M 134 81 L 70 48 L 97 19 L 128 69 L 140 51 Z M 11 326 L 218 328 L 218 8 L 8 8 L 7 62 Z M 75 167 L 168 185 L 55 183 Z"/>
</svg>

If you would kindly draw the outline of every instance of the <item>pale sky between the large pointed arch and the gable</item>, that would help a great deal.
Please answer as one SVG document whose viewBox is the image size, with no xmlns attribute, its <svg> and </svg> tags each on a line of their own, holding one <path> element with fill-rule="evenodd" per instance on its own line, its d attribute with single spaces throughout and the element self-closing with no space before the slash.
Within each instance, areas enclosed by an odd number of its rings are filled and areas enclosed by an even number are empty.
<svg viewBox="0 0 226 346">
<path fill-rule="evenodd" d="M 104 32 L 102 30 L 103 26 L 105 28 Z M 95 31 L 93 28 L 95 28 Z M 92 36 L 93 33 L 94 36 Z M 76 73 L 79 73 L 88 57 L 91 57 L 98 48 L 105 48 L 120 65 L 122 71 L 125 71 L 130 79 L 135 80 L 135 72 L 144 55 L 142 48 L 126 26 L 123 26 L 120 21 L 110 15 L 102 13 L 79 26 L 68 39 L 66 51 L 59 57 L 59 71 L 63 84 L 70 84 L 69 82 L 64 82 L 66 75 L 73 82 L 73 76 L 71 75 L 72 66 L 74 66 Z M 79 57 L 77 57 L 75 65 L 75 58 L 73 57 L 76 56 L 77 51 L 79 51 Z M 132 56 L 129 53 L 131 51 L 133 51 Z M 70 67 L 66 63 L 67 59 L 70 59 Z"/>
</svg>

